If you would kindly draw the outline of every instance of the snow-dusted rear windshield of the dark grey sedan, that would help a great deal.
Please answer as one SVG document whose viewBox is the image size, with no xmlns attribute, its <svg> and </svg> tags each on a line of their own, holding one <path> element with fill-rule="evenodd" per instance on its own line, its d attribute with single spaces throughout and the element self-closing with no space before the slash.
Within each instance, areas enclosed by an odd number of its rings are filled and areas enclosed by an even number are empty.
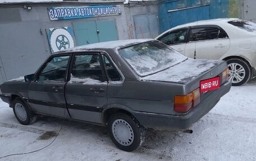
<svg viewBox="0 0 256 161">
<path fill-rule="evenodd" d="M 187 58 L 158 41 L 136 44 L 119 52 L 139 76 L 162 71 Z"/>
</svg>

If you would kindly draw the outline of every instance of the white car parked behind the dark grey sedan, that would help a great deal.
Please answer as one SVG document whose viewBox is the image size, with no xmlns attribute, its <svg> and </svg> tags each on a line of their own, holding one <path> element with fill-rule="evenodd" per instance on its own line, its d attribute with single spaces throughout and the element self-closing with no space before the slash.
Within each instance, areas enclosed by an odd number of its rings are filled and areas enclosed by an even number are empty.
<svg viewBox="0 0 256 161">
<path fill-rule="evenodd" d="M 173 27 L 157 40 L 190 58 L 223 59 L 232 85 L 256 76 L 256 24 L 240 19 L 212 19 Z M 254 44 L 254 45 L 253 45 Z"/>
</svg>

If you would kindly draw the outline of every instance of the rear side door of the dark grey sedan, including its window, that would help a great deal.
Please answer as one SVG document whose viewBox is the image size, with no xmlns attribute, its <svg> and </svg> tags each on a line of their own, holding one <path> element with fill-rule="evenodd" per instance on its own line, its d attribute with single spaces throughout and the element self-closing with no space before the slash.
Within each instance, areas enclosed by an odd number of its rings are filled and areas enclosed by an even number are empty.
<svg viewBox="0 0 256 161">
<path fill-rule="evenodd" d="M 100 53 L 76 53 L 66 85 L 67 108 L 71 118 L 100 123 L 107 103 L 107 80 Z"/>
</svg>

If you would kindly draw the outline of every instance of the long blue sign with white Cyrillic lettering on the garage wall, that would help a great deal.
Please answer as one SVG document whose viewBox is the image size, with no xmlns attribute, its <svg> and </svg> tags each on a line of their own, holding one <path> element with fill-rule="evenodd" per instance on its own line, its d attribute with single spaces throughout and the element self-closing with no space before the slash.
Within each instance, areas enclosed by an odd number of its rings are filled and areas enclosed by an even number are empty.
<svg viewBox="0 0 256 161">
<path fill-rule="evenodd" d="M 49 7 L 51 20 L 81 19 L 98 16 L 121 15 L 121 7 L 107 6 L 81 6 L 81 7 Z"/>
</svg>

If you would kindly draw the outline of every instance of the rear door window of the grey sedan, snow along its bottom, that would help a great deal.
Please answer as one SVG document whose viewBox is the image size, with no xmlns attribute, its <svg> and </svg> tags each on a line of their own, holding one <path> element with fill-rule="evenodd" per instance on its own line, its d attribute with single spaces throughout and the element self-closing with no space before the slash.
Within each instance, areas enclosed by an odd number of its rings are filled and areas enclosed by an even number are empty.
<svg viewBox="0 0 256 161">
<path fill-rule="evenodd" d="M 99 54 L 77 55 L 72 63 L 71 81 L 103 82 Z"/>
</svg>

